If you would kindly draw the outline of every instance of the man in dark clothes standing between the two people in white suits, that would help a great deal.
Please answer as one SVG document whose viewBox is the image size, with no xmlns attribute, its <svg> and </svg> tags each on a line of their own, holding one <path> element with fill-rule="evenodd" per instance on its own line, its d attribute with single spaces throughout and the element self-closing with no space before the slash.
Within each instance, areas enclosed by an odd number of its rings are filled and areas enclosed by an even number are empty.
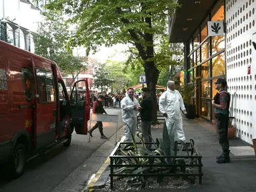
<svg viewBox="0 0 256 192">
<path fill-rule="evenodd" d="M 151 125 L 153 121 L 154 102 L 150 97 L 150 89 L 148 87 L 143 87 L 141 90 L 143 100 L 140 103 L 140 107 L 138 107 L 138 111 L 140 111 L 142 131 L 150 135 L 144 134 L 144 141 L 145 143 L 150 143 L 152 142 Z M 151 149 L 151 144 L 146 144 L 146 148 Z"/>
</svg>

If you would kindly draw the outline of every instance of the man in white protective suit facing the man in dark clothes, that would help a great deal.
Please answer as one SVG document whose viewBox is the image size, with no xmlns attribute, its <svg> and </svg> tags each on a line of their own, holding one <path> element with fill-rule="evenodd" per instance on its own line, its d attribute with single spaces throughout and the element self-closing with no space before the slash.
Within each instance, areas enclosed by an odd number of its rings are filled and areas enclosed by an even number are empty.
<svg viewBox="0 0 256 192">
<path fill-rule="evenodd" d="M 134 98 L 134 89 L 130 88 L 127 90 L 128 96 L 124 97 L 121 101 L 122 119 L 124 121 L 124 136 L 125 142 L 132 142 L 132 135 L 135 135 L 135 129 L 137 128 L 137 107 L 140 106 L 137 99 Z M 130 133 L 130 129 L 132 135 Z"/>
</svg>

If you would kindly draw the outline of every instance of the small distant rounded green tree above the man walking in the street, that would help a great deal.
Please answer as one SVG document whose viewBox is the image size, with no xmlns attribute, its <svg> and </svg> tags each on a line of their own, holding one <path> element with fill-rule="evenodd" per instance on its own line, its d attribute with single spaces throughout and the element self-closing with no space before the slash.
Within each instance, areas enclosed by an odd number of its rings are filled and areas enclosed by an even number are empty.
<svg viewBox="0 0 256 192">
<path fill-rule="evenodd" d="M 96 74 L 94 75 L 94 85 L 99 88 L 101 87 L 102 92 L 104 91 L 104 87 L 110 87 L 114 82 L 114 79 L 110 75 L 110 71 L 107 69 L 106 64 L 101 64 L 96 69 Z"/>
</svg>

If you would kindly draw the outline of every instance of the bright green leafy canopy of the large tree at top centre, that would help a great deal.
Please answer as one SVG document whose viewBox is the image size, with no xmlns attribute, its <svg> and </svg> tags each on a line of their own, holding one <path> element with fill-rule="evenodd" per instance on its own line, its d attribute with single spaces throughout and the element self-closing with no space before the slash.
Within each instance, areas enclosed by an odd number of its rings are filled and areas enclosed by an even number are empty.
<svg viewBox="0 0 256 192">
<path fill-rule="evenodd" d="M 161 36 L 168 16 L 177 6 L 170 0 L 51 0 L 46 8 L 61 10 L 71 17 L 70 23 L 78 24 L 70 45 L 86 45 L 96 51 L 99 45 L 109 47 L 131 41 L 145 52 L 144 47 L 152 45 L 146 35 Z"/>
</svg>

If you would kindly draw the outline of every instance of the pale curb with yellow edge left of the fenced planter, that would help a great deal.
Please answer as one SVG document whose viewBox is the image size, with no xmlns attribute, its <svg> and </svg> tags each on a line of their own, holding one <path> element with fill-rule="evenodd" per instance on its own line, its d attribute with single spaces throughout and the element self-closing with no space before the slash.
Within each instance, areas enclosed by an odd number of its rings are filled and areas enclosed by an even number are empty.
<svg viewBox="0 0 256 192">
<path fill-rule="evenodd" d="M 125 136 L 123 136 L 116 145 L 123 142 L 124 139 L 125 139 Z M 110 170 L 108 169 L 109 165 L 110 165 L 110 157 L 106 159 L 102 167 L 100 167 L 100 169 L 96 173 L 95 177 L 88 183 L 86 189 L 84 189 L 84 192 L 92 192 L 95 189 L 100 189 L 105 187 L 106 182 L 108 181 L 109 173 L 110 173 Z"/>
</svg>

